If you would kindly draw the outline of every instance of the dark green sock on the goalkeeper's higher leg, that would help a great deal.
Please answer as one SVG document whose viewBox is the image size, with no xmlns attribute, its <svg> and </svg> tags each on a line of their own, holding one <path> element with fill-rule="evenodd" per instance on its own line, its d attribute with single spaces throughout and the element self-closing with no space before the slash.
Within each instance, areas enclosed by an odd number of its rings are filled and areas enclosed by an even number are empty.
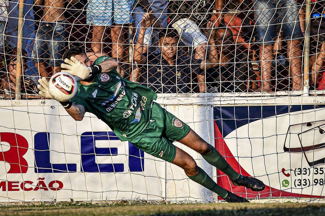
<svg viewBox="0 0 325 216">
<path fill-rule="evenodd" d="M 215 166 L 217 169 L 220 169 L 224 172 L 229 178 L 234 181 L 238 179 L 239 173 L 237 173 L 223 158 L 223 156 L 212 147 L 212 151 L 206 155 L 201 154 L 202 157 L 211 165 Z"/>
</svg>

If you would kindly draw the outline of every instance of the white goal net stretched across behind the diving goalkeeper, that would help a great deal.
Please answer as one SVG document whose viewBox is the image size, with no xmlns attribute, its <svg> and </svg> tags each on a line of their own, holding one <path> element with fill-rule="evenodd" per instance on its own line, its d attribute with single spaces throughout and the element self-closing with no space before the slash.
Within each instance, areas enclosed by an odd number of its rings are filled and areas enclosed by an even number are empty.
<svg viewBox="0 0 325 216">
<path fill-rule="evenodd" d="M 324 0 L 0 0 L 0 11 L 0 202 L 222 200 L 95 115 L 75 121 L 38 95 L 72 47 L 91 63 L 116 58 L 123 78 L 266 184 L 234 186 L 174 142 L 221 187 L 255 202 L 324 201 Z"/>
</svg>

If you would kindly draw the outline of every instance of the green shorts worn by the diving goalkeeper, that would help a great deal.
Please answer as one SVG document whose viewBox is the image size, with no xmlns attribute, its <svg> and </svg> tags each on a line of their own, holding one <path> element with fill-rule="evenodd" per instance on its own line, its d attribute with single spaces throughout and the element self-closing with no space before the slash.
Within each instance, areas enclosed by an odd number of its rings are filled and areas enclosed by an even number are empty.
<svg viewBox="0 0 325 216">
<path fill-rule="evenodd" d="M 153 102 L 148 126 L 130 142 L 148 154 L 172 162 L 176 155 L 173 142 L 183 139 L 189 130 L 187 124 Z"/>
</svg>

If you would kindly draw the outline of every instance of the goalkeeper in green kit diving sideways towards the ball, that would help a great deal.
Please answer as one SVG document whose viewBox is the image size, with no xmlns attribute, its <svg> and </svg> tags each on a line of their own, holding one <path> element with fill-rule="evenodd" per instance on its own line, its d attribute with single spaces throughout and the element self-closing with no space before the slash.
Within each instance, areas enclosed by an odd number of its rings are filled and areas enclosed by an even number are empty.
<svg viewBox="0 0 325 216">
<path fill-rule="evenodd" d="M 205 142 L 187 124 L 163 109 L 153 100 L 151 89 L 123 79 L 116 71 L 117 61 L 108 56 L 99 57 L 92 65 L 81 47 L 64 53 L 62 72 L 76 77 L 78 90 L 72 101 L 60 102 L 75 120 L 82 120 L 85 112 L 104 121 L 121 141 L 129 141 L 137 148 L 162 158 L 184 169 L 193 181 L 218 194 L 227 202 L 248 202 L 217 185 L 185 151 L 173 145 L 178 141 L 196 152 L 211 165 L 223 171 L 234 185 L 253 191 L 265 188 L 262 181 L 238 174 L 210 144 Z M 44 97 L 48 81 L 39 79 L 37 87 Z"/>
</svg>

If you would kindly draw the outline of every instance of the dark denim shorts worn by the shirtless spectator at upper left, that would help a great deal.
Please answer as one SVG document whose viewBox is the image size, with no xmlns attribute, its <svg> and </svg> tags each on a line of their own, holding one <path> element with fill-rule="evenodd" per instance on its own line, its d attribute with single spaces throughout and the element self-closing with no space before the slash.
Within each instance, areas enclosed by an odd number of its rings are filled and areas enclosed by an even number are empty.
<svg viewBox="0 0 325 216">
<path fill-rule="evenodd" d="M 59 67 L 63 63 L 63 52 L 67 40 L 66 25 L 63 22 L 41 22 L 32 51 L 33 63 L 45 62 L 47 59 L 52 67 Z"/>
</svg>

